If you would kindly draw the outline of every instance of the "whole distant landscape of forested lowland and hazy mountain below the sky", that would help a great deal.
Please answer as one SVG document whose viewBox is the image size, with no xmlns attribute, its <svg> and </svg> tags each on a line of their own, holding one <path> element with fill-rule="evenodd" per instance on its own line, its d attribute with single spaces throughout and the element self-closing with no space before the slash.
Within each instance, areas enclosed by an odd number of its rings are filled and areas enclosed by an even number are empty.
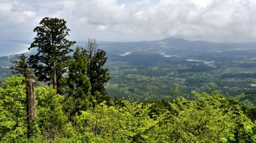
<svg viewBox="0 0 256 143">
<path fill-rule="evenodd" d="M 256 43 L 213 43 L 165 38 L 139 42 L 97 42 L 107 52 L 111 80 L 105 85 L 114 97 L 159 100 L 177 84 L 180 95 L 198 92 L 229 93 L 235 97 L 256 87 Z M 77 42 L 75 46 L 86 46 Z M 75 48 L 75 46 L 73 48 Z M 33 53 L 33 51 L 30 53 Z M 27 53 L 29 56 L 30 53 Z M 0 66 L 10 66 L 0 57 Z M 15 60 L 11 56 L 9 60 Z M 1 71 L 1 79 L 9 71 Z"/>
</svg>

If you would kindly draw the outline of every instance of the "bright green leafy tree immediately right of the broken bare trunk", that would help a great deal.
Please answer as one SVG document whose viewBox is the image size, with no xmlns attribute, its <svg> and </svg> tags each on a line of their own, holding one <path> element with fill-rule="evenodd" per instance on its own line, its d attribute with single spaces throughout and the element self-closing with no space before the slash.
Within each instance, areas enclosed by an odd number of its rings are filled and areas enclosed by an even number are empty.
<svg viewBox="0 0 256 143">
<path fill-rule="evenodd" d="M 35 92 L 38 126 L 42 135 L 45 136 L 45 141 L 56 141 L 59 135 L 65 136 L 63 134 L 68 123 L 68 117 L 62 110 L 65 97 L 56 94 L 52 86 L 37 87 Z"/>
</svg>

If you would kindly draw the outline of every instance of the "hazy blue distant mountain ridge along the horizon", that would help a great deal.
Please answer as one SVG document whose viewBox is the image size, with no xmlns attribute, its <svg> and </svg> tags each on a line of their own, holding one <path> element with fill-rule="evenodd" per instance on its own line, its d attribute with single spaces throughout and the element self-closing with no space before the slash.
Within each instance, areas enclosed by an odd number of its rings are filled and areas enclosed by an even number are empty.
<svg viewBox="0 0 256 143">
<path fill-rule="evenodd" d="M 214 43 L 214 42 L 208 42 L 208 41 L 188 41 L 182 38 L 173 38 L 173 37 L 168 37 L 168 38 L 165 38 L 162 40 L 156 40 L 156 41 L 97 42 L 97 43 L 98 43 L 98 48 L 108 52 L 108 56 L 126 56 L 133 52 L 151 52 L 151 53 L 161 53 L 164 56 L 170 57 L 173 55 L 197 55 L 201 53 L 216 53 L 216 52 L 220 53 L 227 50 L 256 49 L 256 42 Z M 77 41 L 77 44 L 73 46 L 72 49 L 75 49 L 76 46 L 85 47 L 86 42 Z M 15 49 L 15 48 L 9 48 L 9 49 Z M 24 50 L 24 48 L 20 50 Z M 10 55 L 10 50 L 8 52 L 9 53 L 6 54 L 6 56 Z M 32 52 L 35 52 L 35 51 L 32 51 Z M 16 53 L 13 52 L 13 54 L 16 54 Z M 4 56 L 4 53 L 1 53 L 1 56 Z"/>
</svg>

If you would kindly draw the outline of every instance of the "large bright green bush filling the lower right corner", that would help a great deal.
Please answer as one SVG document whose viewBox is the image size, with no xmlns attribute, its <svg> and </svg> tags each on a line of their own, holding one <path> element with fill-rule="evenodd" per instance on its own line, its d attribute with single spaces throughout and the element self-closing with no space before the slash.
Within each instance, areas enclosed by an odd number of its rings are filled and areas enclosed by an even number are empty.
<svg viewBox="0 0 256 143">
<path fill-rule="evenodd" d="M 255 125 L 246 118 L 238 104 L 231 104 L 229 98 L 220 94 L 192 93 L 196 101 L 184 98 L 170 101 L 169 110 L 171 113 L 174 110 L 177 115 L 170 114 L 162 129 L 169 133 L 168 138 L 173 142 L 254 141 Z"/>
</svg>

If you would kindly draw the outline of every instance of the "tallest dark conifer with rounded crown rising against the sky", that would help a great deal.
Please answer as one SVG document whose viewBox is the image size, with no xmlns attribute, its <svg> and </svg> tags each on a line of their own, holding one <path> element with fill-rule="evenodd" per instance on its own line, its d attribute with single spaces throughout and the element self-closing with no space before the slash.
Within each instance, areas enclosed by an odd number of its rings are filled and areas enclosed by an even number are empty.
<svg viewBox="0 0 256 143">
<path fill-rule="evenodd" d="M 69 48 L 75 41 L 65 39 L 70 30 L 63 19 L 45 17 L 39 24 L 34 29 L 37 32 L 35 41 L 29 48 L 37 48 L 38 53 L 29 57 L 29 64 L 35 69 L 39 81 L 53 83 L 53 87 L 57 89 L 58 81 L 66 72 L 65 67 L 68 67 L 70 57 L 67 54 L 72 51 Z"/>
</svg>

